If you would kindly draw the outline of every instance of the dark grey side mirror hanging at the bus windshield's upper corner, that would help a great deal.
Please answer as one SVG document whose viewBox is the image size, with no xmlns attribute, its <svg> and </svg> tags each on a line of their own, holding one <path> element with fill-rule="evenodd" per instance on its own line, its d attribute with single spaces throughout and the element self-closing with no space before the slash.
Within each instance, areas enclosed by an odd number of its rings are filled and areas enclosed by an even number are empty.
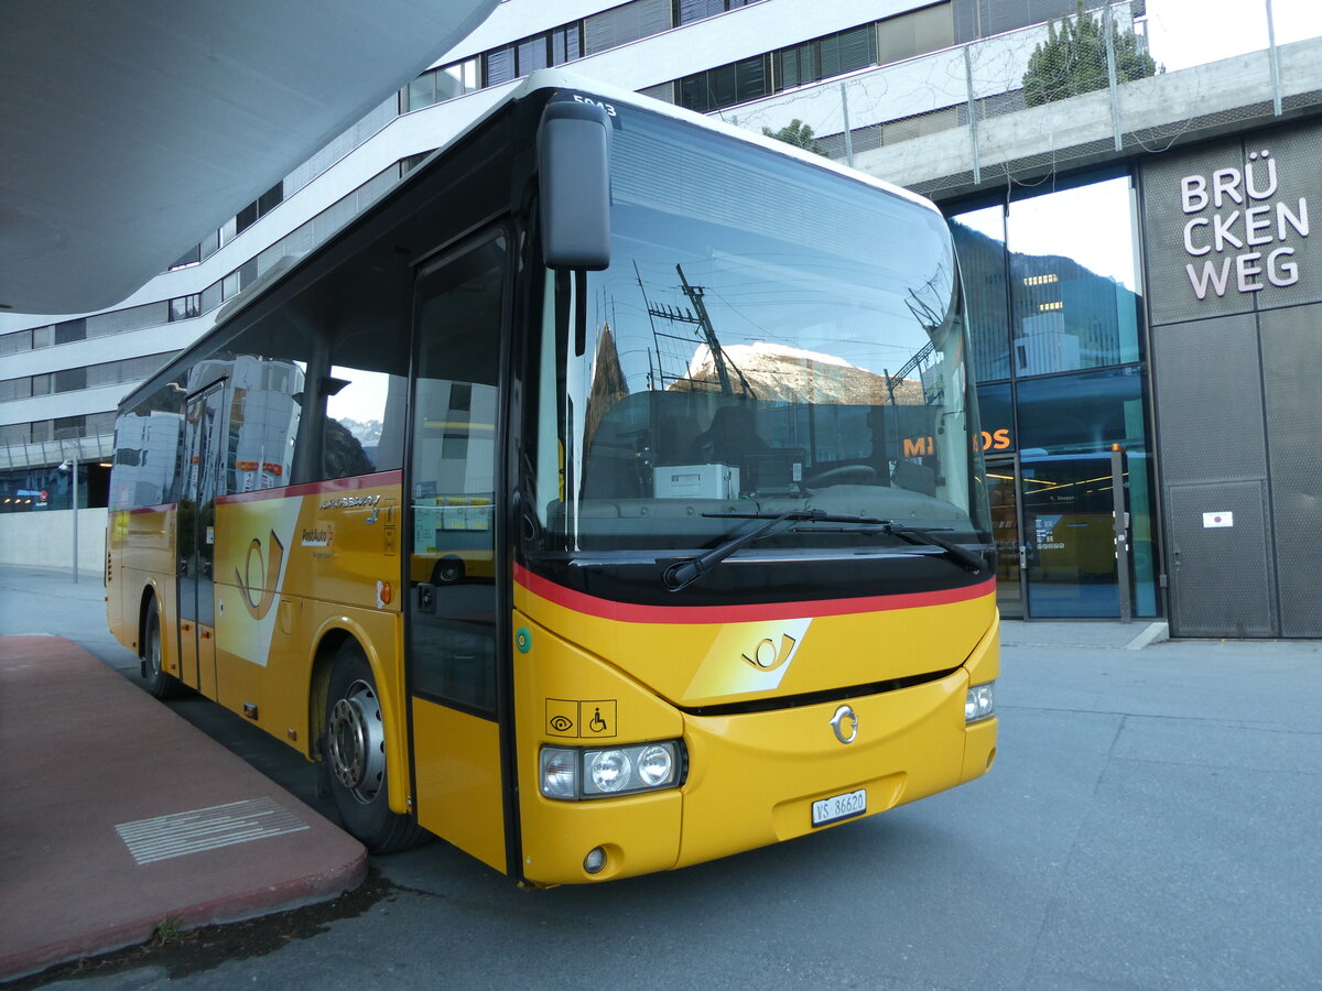
<svg viewBox="0 0 1322 991">
<path fill-rule="evenodd" d="M 611 264 L 611 120 L 596 103 L 550 103 L 537 131 L 542 256 L 555 270 Z"/>
</svg>

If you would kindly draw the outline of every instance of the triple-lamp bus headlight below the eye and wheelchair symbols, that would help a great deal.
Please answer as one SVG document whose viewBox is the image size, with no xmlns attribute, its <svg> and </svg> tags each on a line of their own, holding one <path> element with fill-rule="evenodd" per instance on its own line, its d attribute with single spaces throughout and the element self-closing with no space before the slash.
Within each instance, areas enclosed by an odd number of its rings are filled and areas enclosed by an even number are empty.
<svg viewBox="0 0 1322 991">
<path fill-rule="evenodd" d="M 680 740 L 613 747 L 543 747 L 542 794 L 574 801 L 678 788 L 683 744 Z"/>
</svg>

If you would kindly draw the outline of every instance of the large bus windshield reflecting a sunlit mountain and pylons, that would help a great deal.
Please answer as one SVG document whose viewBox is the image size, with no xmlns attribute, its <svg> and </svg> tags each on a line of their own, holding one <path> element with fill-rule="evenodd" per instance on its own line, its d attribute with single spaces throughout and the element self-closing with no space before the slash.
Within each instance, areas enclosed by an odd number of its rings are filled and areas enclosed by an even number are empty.
<svg viewBox="0 0 1322 991">
<path fill-rule="evenodd" d="M 809 507 L 989 543 L 941 215 L 681 122 L 616 122 L 611 267 L 547 277 L 549 543 L 703 547 L 730 514 Z M 776 546 L 863 539 L 801 526 Z"/>
</svg>

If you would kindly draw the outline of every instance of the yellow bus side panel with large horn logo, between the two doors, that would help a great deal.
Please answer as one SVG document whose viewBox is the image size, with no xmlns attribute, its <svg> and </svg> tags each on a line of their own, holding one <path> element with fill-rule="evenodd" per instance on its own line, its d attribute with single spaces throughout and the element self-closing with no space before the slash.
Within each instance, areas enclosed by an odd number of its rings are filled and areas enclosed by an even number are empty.
<svg viewBox="0 0 1322 991">
<path fill-rule="evenodd" d="M 390 807 L 405 813 L 399 485 L 358 484 L 218 501 L 217 700 L 312 756 L 309 717 L 320 702 L 309 690 L 319 647 L 328 638 L 357 640 L 386 716 Z"/>
</svg>

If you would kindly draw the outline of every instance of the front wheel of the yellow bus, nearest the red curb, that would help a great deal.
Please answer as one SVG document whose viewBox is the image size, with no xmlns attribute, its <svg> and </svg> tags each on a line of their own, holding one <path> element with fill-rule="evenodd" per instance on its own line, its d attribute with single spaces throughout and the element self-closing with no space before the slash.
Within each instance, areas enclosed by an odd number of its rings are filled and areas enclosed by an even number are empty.
<svg viewBox="0 0 1322 991">
<path fill-rule="evenodd" d="M 408 815 L 390 810 L 386 724 L 371 667 L 357 641 L 336 651 L 327 690 L 325 777 L 345 828 L 373 854 L 393 854 L 428 838 Z"/>
</svg>

